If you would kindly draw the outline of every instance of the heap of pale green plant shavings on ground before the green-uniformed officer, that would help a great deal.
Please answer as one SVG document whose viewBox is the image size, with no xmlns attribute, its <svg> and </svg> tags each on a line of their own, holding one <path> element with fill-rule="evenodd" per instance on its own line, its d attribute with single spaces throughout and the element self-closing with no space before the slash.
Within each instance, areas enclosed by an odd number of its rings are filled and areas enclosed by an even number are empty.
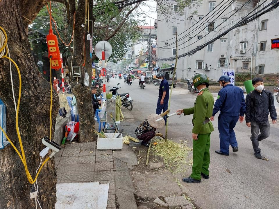
<svg viewBox="0 0 279 209">
<path fill-rule="evenodd" d="M 157 140 L 157 142 L 158 144 L 156 146 L 152 146 L 152 154 L 162 157 L 165 167 L 171 173 L 177 174 L 179 172 L 185 172 L 188 152 L 192 150 L 191 148 L 187 147 L 187 141 L 180 141 L 180 144 L 172 140 L 167 140 L 167 142 Z"/>
</svg>

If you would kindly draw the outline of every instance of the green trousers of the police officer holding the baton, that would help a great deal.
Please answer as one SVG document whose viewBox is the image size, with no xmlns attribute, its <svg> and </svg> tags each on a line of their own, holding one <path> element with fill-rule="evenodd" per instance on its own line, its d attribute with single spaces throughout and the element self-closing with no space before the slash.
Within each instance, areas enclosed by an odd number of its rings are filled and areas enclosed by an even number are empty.
<svg viewBox="0 0 279 209">
<path fill-rule="evenodd" d="M 193 140 L 193 166 L 191 177 L 200 180 L 201 172 L 209 175 L 210 134 L 198 134 L 198 140 Z"/>
</svg>

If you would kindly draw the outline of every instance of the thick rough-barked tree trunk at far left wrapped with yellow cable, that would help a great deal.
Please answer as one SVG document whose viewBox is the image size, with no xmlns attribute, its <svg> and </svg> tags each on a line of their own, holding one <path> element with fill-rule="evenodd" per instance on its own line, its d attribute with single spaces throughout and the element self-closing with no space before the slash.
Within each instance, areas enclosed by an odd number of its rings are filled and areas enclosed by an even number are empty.
<svg viewBox="0 0 279 209">
<path fill-rule="evenodd" d="M 30 11 L 35 12 L 35 11 Z M 19 130 L 26 155 L 27 166 L 32 178 L 40 164 L 39 153 L 45 147 L 42 138 L 50 134 L 50 84 L 37 70 L 30 53 L 30 45 L 19 0 L 0 1 L 0 26 L 8 35 L 11 58 L 17 63 L 22 78 L 22 93 L 19 107 Z M 12 64 L 15 98 L 18 103 L 19 76 Z M 0 98 L 7 106 L 7 134 L 19 149 L 15 129 L 15 108 L 12 98 L 10 67 L 8 59 L 0 58 Z M 53 91 L 52 135 L 59 108 L 58 95 Z M 19 149 L 19 152 L 21 150 Z M 44 161 L 44 159 L 43 159 Z M 28 182 L 24 166 L 11 145 L 0 150 L 0 208 L 30 209 L 35 207 L 35 199 L 30 199 L 31 184 Z M 53 209 L 56 203 L 56 171 L 54 158 L 42 168 L 37 179 L 38 199 L 42 208 Z"/>
</svg>

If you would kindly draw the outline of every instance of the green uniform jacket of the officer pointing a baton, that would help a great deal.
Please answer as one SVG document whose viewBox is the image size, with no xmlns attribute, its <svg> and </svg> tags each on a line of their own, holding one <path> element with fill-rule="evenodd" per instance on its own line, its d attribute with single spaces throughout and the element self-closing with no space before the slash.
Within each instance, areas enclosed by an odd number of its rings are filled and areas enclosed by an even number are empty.
<svg viewBox="0 0 279 209">
<path fill-rule="evenodd" d="M 193 115 L 194 134 L 209 134 L 214 131 L 211 121 L 203 122 L 212 116 L 214 99 L 208 88 L 203 89 L 197 96 L 194 107 L 183 109 L 184 115 Z"/>
</svg>

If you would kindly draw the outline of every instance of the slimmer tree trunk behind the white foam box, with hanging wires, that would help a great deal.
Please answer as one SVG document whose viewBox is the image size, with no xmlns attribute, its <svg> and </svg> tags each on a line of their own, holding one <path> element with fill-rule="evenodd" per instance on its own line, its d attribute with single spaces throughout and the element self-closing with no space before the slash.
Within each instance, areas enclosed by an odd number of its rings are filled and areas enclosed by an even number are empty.
<svg viewBox="0 0 279 209">
<path fill-rule="evenodd" d="M 71 3 L 71 2 L 69 2 Z M 92 20 L 92 6 L 93 2 L 89 1 L 89 19 Z M 75 7 L 74 3 L 70 4 L 70 8 Z M 87 18 L 86 18 L 87 19 Z M 90 41 L 87 40 L 87 33 L 92 37 L 92 24 L 91 21 L 87 21 L 87 27 L 81 25 L 85 23 L 85 0 L 78 1 L 78 7 L 75 14 L 75 30 L 74 30 L 74 53 L 72 54 L 73 63 L 72 66 L 81 67 L 81 77 L 78 77 L 78 81 L 73 79 L 71 82 L 72 91 L 76 97 L 79 116 L 79 142 L 95 141 L 96 136 L 93 133 L 95 128 L 94 111 L 91 103 L 91 75 L 92 64 L 90 59 Z M 85 49 L 84 47 L 85 46 Z M 83 68 L 85 54 L 85 69 L 89 75 L 89 86 L 85 86 L 83 83 L 85 71 Z M 69 59 L 70 60 L 70 59 Z M 71 61 L 69 61 L 69 65 Z"/>
</svg>

